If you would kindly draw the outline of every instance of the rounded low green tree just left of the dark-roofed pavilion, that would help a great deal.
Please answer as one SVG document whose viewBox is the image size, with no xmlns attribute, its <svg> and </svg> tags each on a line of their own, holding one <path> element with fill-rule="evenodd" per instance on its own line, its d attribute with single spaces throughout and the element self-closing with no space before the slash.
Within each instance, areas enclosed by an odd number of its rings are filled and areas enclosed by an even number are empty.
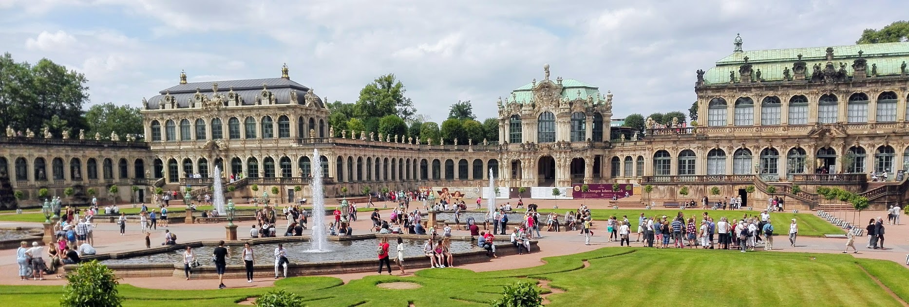
<svg viewBox="0 0 909 307">
<path fill-rule="evenodd" d="M 111 132 L 120 135 L 141 135 L 145 132 L 139 108 L 129 105 L 118 106 L 113 103 L 92 105 L 85 113 L 85 121 L 88 122 L 89 135 L 95 133 L 110 135 Z"/>
</svg>

